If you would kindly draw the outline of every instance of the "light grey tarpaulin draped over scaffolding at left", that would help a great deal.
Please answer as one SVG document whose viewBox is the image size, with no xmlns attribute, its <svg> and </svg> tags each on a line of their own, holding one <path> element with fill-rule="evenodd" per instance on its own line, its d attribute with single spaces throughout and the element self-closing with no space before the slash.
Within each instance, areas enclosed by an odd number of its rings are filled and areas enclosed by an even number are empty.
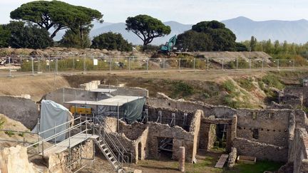
<svg viewBox="0 0 308 173">
<path fill-rule="evenodd" d="M 55 103 L 51 100 L 42 100 L 41 101 L 41 118 L 40 118 L 40 132 L 43 132 L 45 130 L 51 129 L 52 127 L 55 127 L 55 125 L 61 125 L 65 122 L 68 122 L 71 120 L 71 112 L 67 108 L 65 108 L 63 105 L 60 105 L 58 103 Z M 56 127 L 56 133 L 62 132 L 63 130 L 66 130 L 69 127 L 70 123 L 66 123 L 65 125 L 61 125 L 59 127 Z M 34 130 L 32 132 L 37 132 L 38 125 L 34 127 Z M 54 135 L 55 130 L 48 130 L 47 132 L 43 132 L 40 136 L 43 137 L 43 139 L 46 139 L 47 137 L 51 137 Z M 56 137 L 56 141 L 63 141 L 66 139 L 66 133 L 63 133 L 63 135 L 59 135 Z M 54 139 L 51 139 L 54 140 Z"/>
</svg>

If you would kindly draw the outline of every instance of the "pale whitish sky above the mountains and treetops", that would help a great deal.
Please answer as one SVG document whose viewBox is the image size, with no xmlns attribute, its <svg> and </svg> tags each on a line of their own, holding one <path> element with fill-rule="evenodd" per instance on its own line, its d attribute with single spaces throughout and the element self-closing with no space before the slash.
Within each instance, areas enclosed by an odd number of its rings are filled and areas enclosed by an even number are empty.
<svg viewBox="0 0 308 173">
<path fill-rule="evenodd" d="M 103 20 L 125 22 L 128 16 L 148 14 L 161 21 L 194 24 L 245 16 L 254 21 L 308 19 L 307 0 L 62 0 L 101 11 Z M 0 0 L 0 23 L 29 0 Z"/>
</svg>

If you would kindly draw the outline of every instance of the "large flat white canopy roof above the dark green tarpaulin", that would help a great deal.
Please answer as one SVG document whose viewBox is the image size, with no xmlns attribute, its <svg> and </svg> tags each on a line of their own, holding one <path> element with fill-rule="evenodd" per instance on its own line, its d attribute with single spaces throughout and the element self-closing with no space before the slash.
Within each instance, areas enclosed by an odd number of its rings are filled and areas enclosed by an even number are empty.
<svg viewBox="0 0 308 173">
<path fill-rule="evenodd" d="M 66 102 L 68 104 L 75 105 L 107 105 L 107 106 L 122 106 L 125 103 L 129 103 L 133 100 L 138 100 L 142 97 L 127 96 L 127 95 L 116 95 L 113 98 L 107 98 L 99 101 L 85 101 L 85 100 L 73 100 Z"/>
</svg>

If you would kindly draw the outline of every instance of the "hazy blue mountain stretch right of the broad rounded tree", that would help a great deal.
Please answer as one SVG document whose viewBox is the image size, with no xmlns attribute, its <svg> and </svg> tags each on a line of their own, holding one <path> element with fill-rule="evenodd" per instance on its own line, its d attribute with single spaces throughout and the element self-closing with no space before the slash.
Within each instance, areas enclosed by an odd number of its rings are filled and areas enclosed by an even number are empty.
<svg viewBox="0 0 308 173">
<path fill-rule="evenodd" d="M 288 41 L 307 43 L 308 21 L 252 21 L 245 17 L 237 17 L 222 21 L 227 28 L 237 36 L 237 41 L 250 40 L 255 36 L 258 41 L 271 39 L 272 41 Z"/>
</svg>

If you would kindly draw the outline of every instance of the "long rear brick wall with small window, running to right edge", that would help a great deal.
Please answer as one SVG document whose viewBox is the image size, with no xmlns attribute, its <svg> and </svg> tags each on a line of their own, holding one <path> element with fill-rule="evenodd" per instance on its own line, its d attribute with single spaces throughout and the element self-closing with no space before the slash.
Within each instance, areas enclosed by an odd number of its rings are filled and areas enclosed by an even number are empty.
<svg viewBox="0 0 308 173">
<path fill-rule="evenodd" d="M 200 125 L 200 149 L 212 147 L 214 128 L 211 125 L 223 124 L 224 119 L 236 117 L 235 125 L 228 123 L 227 138 L 230 147 L 237 148 L 237 154 L 270 159 L 279 162 L 291 161 L 288 158 L 294 155 L 292 150 L 292 135 L 295 127 L 308 127 L 306 114 L 302 110 L 292 109 L 232 109 L 225 106 L 207 105 L 205 103 L 173 100 L 166 95 L 158 94 L 158 98 L 148 98 L 148 105 L 154 108 L 168 108 L 169 110 L 194 111 L 202 110 L 204 115 Z M 209 117 L 214 117 L 210 120 Z M 215 122 L 216 121 L 216 122 Z M 233 123 L 233 122 L 232 122 Z M 205 140 L 204 140 L 205 139 Z"/>
</svg>

